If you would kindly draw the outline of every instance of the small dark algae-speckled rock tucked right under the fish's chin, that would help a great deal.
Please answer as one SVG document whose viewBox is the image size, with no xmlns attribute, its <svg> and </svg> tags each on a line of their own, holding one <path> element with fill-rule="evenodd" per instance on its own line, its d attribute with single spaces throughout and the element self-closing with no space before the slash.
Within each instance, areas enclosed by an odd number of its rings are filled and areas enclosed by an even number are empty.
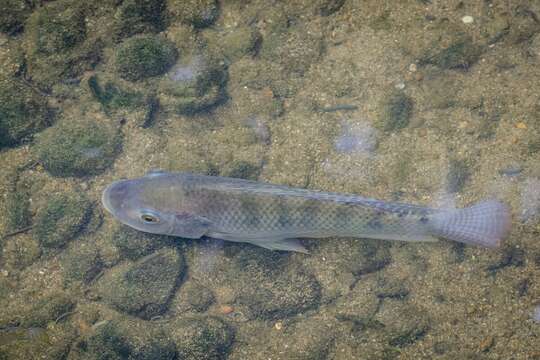
<svg viewBox="0 0 540 360">
<path fill-rule="evenodd" d="M 111 238 L 112 244 L 120 255 L 130 260 L 136 260 L 157 249 L 170 245 L 174 239 L 163 235 L 155 235 L 121 226 Z"/>
</svg>

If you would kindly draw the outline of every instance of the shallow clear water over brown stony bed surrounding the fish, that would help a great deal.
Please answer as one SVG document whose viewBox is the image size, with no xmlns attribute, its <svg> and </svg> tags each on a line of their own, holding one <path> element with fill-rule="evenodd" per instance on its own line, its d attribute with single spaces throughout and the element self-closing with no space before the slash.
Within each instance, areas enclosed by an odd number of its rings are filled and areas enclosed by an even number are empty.
<svg viewBox="0 0 540 360">
<path fill-rule="evenodd" d="M 540 357 L 537 3 L 32 3 L 0 4 L 0 358 Z M 101 192 L 150 169 L 497 198 L 512 230 L 309 255 L 143 234 Z"/>
</svg>

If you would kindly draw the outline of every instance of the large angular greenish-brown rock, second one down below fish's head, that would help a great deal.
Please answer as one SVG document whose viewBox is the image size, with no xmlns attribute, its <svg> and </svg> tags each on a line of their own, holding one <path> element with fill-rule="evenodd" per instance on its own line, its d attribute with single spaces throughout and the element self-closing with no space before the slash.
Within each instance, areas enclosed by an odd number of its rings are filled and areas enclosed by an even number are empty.
<svg viewBox="0 0 540 360">
<path fill-rule="evenodd" d="M 98 291 L 117 309 L 150 319 L 167 310 L 183 269 L 184 259 L 176 249 L 161 249 L 113 268 L 100 279 Z"/>
</svg>

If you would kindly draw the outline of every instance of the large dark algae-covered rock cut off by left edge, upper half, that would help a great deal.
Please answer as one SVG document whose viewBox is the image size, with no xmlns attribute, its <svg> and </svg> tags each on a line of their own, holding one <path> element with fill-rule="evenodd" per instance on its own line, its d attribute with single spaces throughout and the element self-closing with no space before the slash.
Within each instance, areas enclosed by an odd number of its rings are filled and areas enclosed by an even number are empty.
<svg viewBox="0 0 540 360">
<path fill-rule="evenodd" d="M 17 79 L 0 77 L 0 149 L 51 125 L 46 99 Z"/>
</svg>

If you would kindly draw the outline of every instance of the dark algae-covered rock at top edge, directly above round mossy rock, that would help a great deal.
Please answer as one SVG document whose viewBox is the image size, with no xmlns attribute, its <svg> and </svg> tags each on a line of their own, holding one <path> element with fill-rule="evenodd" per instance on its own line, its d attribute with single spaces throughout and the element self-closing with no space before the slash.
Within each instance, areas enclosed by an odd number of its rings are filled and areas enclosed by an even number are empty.
<svg viewBox="0 0 540 360">
<path fill-rule="evenodd" d="M 128 37 L 165 27 L 165 0 L 125 0 L 116 10 L 115 32 Z"/>
</svg>

